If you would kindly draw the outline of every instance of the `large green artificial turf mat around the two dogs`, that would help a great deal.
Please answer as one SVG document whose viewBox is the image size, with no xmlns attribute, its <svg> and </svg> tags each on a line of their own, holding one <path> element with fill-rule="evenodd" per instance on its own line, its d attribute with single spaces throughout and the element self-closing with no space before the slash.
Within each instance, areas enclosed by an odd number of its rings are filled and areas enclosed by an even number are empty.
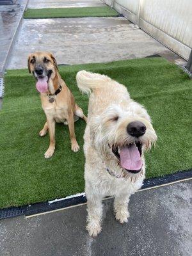
<svg viewBox="0 0 192 256">
<path fill-rule="evenodd" d="M 191 81 L 163 58 L 115 61 L 60 67 L 61 77 L 87 113 L 88 97 L 76 86 L 76 73 L 90 70 L 106 74 L 127 86 L 132 99 L 147 108 L 158 140 L 145 154 L 147 178 L 187 170 L 192 166 L 190 100 Z M 49 134 L 38 132 L 45 122 L 35 80 L 28 70 L 8 70 L 0 111 L 0 208 L 33 204 L 84 191 L 83 133 L 75 124 L 79 152 L 70 150 L 68 127 L 56 125 L 56 151 L 44 159 Z"/>
</svg>

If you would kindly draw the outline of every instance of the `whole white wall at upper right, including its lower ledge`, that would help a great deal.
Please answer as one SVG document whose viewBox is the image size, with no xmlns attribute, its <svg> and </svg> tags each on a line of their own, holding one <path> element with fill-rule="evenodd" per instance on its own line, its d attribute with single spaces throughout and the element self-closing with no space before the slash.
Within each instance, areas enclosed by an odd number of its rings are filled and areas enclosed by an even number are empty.
<svg viewBox="0 0 192 256">
<path fill-rule="evenodd" d="M 111 1 L 127 19 L 188 60 L 192 48 L 192 0 Z"/>
</svg>

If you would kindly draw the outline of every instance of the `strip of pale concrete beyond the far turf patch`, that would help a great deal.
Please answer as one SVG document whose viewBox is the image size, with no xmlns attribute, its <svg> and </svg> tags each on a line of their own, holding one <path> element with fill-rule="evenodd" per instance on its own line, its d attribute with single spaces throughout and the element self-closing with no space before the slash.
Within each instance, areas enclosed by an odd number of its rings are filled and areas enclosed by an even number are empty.
<svg viewBox="0 0 192 256">
<path fill-rule="evenodd" d="M 28 8 L 65 8 L 106 6 L 100 0 L 29 0 Z"/>
</svg>

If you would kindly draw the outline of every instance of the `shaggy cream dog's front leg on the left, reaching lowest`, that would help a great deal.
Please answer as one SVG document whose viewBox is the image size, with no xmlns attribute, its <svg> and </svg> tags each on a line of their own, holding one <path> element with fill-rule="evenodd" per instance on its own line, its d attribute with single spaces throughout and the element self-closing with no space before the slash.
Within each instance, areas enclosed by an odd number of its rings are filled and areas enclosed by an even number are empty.
<svg viewBox="0 0 192 256">
<path fill-rule="evenodd" d="M 101 220 L 102 220 L 102 197 L 96 195 L 87 195 L 87 225 L 86 229 L 90 236 L 97 236 L 101 231 Z"/>
</svg>

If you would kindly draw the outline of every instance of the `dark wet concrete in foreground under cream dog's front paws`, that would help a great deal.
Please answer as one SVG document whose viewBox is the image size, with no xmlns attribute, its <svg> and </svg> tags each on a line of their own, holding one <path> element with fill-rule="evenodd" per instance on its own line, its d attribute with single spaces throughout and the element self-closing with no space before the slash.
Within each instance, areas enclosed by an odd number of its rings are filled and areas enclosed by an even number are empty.
<svg viewBox="0 0 192 256">
<path fill-rule="evenodd" d="M 4 256 L 191 256 L 192 182 L 140 191 L 131 196 L 124 225 L 104 201 L 102 233 L 88 236 L 86 205 L 33 218 L 0 223 L 0 255 Z"/>
</svg>

